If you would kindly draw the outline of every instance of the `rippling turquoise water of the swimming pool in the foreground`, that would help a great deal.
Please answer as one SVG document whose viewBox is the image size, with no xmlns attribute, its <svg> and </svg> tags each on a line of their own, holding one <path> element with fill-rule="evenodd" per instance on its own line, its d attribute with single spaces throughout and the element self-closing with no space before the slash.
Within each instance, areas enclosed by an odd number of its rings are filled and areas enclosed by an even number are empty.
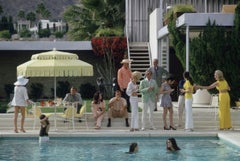
<svg viewBox="0 0 240 161">
<path fill-rule="evenodd" d="M 216 137 L 175 137 L 179 152 L 166 151 L 166 137 L 1 138 L 0 161 L 239 161 L 240 148 Z M 131 142 L 139 152 L 126 154 Z"/>
</svg>

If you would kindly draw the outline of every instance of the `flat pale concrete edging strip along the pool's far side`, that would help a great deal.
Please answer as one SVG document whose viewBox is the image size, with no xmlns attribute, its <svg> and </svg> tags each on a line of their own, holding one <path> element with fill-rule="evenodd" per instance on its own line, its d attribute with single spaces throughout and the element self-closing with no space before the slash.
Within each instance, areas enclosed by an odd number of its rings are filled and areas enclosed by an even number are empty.
<svg viewBox="0 0 240 161">
<path fill-rule="evenodd" d="M 58 130 L 52 131 L 51 137 L 218 137 L 220 140 L 229 142 L 240 147 L 239 130 L 234 131 L 163 131 L 147 130 L 138 132 L 129 132 L 128 130 Z M 29 130 L 27 133 L 13 133 L 12 131 L 0 131 L 0 138 L 38 138 L 37 130 Z"/>
</svg>

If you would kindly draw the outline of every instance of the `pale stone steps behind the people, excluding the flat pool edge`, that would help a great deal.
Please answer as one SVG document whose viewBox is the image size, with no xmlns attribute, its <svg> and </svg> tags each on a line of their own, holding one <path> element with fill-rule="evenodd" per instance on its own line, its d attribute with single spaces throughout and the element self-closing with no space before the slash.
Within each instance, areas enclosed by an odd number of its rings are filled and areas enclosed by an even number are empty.
<svg viewBox="0 0 240 161">
<path fill-rule="evenodd" d="M 214 113 L 209 112 L 211 109 L 193 109 L 193 120 L 194 120 L 194 126 L 197 129 L 217 129 L 218 128 L 218 118 L 215 119 Z M 200 111 L 200 112 L 199 112 Z M 231 110 L 231 117 L 232 117 L 232 125 L 234 128 L 240 128 L 239 123 L 239 112 L 238 110 Z M 131 115 L 129 114 L 129 120 Z M 20 124 L 20 116 L 18 118 L 18 125 Z M 86 114 L 87 118 L 87 127 L 88 128 L 94 128 L 94 119 L 92 118 L 91 113 Z M 51 128 L 54 129 L 54 118 L 49 118 L 51 123 Z M 183 116 L 184 120 L 184 116 Z M 25 120 L 25 128 L 26 129 L 33 129 L 33 117 L 27 117 Z M 129 121 L 130 122 L 130 121 Z M 177 124 L 177 111 L 174 110 L 174 123 Z M 162 110 L 159 110 L 157 112 L 154 112 L 154 124 L 156 128 L 161 129 L 163 126 L 163 120 L 162 120 Z M 139 125 L 141 125 L 141 112 L 139 113 Z M 105 119 L 102 123 L 103 127 L 107 126 L 107 115 L 105 116 Z M 148 126 L 148 124 L 147 124 Z M 39 129 L 40 123 L 39 120 L 36 120 L 36 129 Z M 84 129 L 86 127 L 86 122 L 78 122 L 75 121 L 75 128 L 76 129 Z M 72 128 L 72 122 L 64 123 L 63 119 L 57 118 L 57 128 L 58 129 L 71 129 Z M 122 129 L 125 127 L 125 120 L 123 118 L 116 118 L 112 120 L 112 127 L 116 129 Z M 13 114 L 1 114 L 0 117 L 0 129 L 13 129 Z"/>
</svg>

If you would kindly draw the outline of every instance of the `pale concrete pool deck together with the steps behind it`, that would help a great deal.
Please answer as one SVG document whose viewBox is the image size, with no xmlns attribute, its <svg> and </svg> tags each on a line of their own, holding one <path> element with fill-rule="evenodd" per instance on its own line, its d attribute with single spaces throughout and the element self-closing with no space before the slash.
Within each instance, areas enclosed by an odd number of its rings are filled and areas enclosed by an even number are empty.
<svg viewBox="0 0 240 161">
<path fill-rule="evenodd" d="M 91 113 L 87 114 L 87 124 L 85 122 L 75 122 L 75 129 L 71 124 L 66 125 L 62 120 L 57 120 L 57 127 L 54 128 L 53 120 L 50 119 L 51 128 L 49 137 L 219 137 L 220 139 L 230 142 L 240 147 L 240 122 L 239 110 L 231 110 L 233 130 L 218 130 L 218 119 L 214 116 L 214 110 L 210 108 L 194 108 L 194 131 L 186 132 L 183 128 L 177 130 L 163 130 L 162 110 L 154 112 L 154 124 L 156 130 L 146 129 L 145 131 L 130 132 L 129 127 L 124 126 L 124 119 L 113 119 L 112 127 L 106 127 L 107 116 L 102 123 L 100 130 L 94 129 Z M 129 114 L 130 117 L 130 114 Z M 18 126 L 20 124 L 18 118 Z M 139 113 L 139 125 L 141 125 L 141 113 Z M 174 123 L 177 123 L 177 109 L 174 108 Z M 0 138 L 6 137 L 38 137 L 39 124 L 33 130 L 33 118 L 26 118 L 26 133 L 14 133 L 13 131 L 13 114 L 0 115 Z"/>
</svg>

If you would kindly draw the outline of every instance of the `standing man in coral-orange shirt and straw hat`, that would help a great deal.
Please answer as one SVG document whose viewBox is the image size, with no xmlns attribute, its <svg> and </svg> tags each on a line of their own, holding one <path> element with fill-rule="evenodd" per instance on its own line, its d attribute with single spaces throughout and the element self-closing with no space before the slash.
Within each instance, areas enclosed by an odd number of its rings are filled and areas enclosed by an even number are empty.
<svg viewBox="0 0 240 161">
<path fill-rule="evenodd" d="M 132 71 L 129 69 L 129 64 L 132 60 L 123 59 L 121 61 L 122 67 L 118 70 L 117 73 L 117 82 L 119 86 L 119 90 L 122 92 L 122 97 L 127 101 L 127 111 L 131 112 L 129 96 L 126 93 L 128 83 L 132 78 Z"/>
</svg>

